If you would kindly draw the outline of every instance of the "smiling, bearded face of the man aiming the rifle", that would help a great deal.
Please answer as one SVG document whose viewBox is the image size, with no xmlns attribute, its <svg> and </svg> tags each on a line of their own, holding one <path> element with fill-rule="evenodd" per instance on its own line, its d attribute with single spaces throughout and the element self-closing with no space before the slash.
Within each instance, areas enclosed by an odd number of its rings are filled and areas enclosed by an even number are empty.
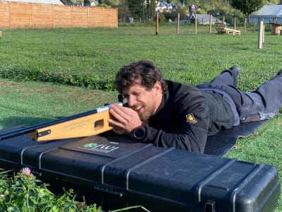
<svg viewBox="0 0 282 212">
<path fill-rule="evenodd" d="M 123 96 L 128 100 L 128 106 L 139 114 L 141 121 L 147 123 L 161 103 L 161 85 L 157 82 L 151 90 L 147 90 L 136 81 L 132 86 L 123 89 Z"/>
</svg>

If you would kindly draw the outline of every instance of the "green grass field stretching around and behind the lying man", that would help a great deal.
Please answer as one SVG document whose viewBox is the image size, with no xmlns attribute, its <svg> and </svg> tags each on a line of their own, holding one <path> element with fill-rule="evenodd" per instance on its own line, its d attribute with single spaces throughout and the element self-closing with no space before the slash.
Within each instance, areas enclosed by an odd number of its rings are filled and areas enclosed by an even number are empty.
<svg viewBox="0 0 282 212">
<path fill-rule="evenodd" d="M 281 36 L 266 32 L 263 48 L 258 49 L 257 31 L 240 36 L 209 34 L 208 28 L 197 35 L 192 32 L 189 25 L 180 25 L 180 35 L 174 25 L 160 25 L 159 35 L 154 25 L 3 30 L 0 129 L 39 124 L 116 102 L 117 93 L 111 90 L 114 74 L 139 59 L 154 61 L 165 78 L 192 85 L 238 64 L 239 88 L 248 91 L 282 68 Z M 227 157 L 274 165 L 281 179 L 281 123 L 279 113 L 254 135 L 240 139 Z M 282 211 L 282 196 L 276 211 Z"/>
</svg>

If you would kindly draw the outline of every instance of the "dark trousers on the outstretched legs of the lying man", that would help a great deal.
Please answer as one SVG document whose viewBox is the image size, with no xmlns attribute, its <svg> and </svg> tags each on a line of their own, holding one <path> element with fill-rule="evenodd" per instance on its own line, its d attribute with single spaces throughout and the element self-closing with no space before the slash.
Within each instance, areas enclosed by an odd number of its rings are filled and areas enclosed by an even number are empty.
<svg viewBox="0 0 282 212">
<path fill-rule="evenodd" d="M 231 69 L 221 72 L 209 85 L 231 96 L 240 122 L 270 119 L 282 107 L 282 73 L 279 72 L 252 92 L 237 89 L 237 76 Z"/>
</svg>

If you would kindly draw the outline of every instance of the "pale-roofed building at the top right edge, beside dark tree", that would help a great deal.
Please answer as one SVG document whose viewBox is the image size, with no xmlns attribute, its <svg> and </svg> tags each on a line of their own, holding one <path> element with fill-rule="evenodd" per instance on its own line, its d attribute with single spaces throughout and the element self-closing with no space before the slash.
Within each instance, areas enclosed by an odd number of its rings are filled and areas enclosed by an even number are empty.
<svg viewBox="0 0 282 212">
<path fill-rule="evenodd" d="M 250 23 L 274 23 L 282 25 L 282 5 L 264 5 L 249 16 Z"/>
</svg>

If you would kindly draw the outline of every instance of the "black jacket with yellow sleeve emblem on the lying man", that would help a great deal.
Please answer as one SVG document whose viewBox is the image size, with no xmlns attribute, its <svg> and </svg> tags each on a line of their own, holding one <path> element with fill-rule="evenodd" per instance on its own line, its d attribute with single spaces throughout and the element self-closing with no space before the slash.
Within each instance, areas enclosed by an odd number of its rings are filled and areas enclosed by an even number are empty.
<svg viewBox="0 0 282 212">
<path fill-rule="evenodd" d="M 229 129 L 234 118 L 228 103 L 213 93 L 167 81 L 157 112 L 144 126 L 144 143 L 204 152 L 207 136 Z"/>
</svg>

